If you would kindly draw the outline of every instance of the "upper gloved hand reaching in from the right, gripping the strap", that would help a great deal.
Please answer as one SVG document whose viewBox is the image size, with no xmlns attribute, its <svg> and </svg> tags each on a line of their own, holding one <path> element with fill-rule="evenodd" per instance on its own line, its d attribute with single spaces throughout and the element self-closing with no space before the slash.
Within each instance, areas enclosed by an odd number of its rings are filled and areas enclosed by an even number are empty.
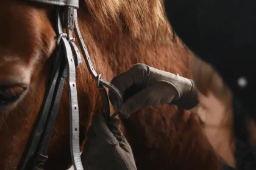
<svg viewBox="0 0 256 170">
<path fill-rule="evenodd" d="M 198 104 L 192 80 L 158 70 L 146 64 L 135 64 L 127 72 L 117 75 L 111 83 L 124 97 L 120 114 L 128 118 L 132 112 L 144 106 L 176 104 L 183 109 L 191 109 Z M 127 96 L 127 94 L 129 96 Z M 116 109 L 115 94 L 109 93 L 110 101 Z"/>
</svg>

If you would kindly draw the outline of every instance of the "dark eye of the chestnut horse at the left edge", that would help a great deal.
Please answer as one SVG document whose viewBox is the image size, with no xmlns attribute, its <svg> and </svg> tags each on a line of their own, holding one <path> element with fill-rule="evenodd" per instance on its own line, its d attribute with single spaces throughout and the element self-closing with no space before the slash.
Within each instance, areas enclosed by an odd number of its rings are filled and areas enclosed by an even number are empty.
<svg viewBox="0 0 256 170">
<path fill-rule="evenodd" d="M 1 86 L 0 87 L 0 107 L 7 106 L 14 103 L 21 97 L 23 92 L 27 90 L 27 87 L 21 86 Z"/>
</svg>

